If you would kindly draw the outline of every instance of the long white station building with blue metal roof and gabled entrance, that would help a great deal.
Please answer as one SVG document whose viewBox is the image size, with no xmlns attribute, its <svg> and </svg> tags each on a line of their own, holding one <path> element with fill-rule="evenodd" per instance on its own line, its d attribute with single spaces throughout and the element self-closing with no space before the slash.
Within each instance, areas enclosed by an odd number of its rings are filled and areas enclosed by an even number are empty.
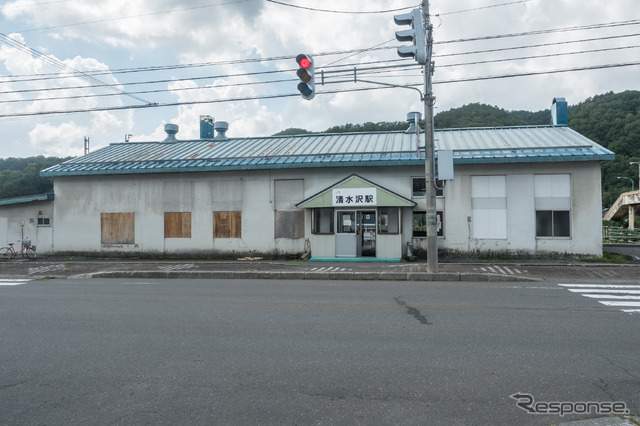
<svg viewBox="0 0 640 426">
<path fill-rule="evenodd" d="M 557 102 L 556 102 L 557 101 Z M 601 255 L 602 161 L 549 126 L 435 131 L 438 246 L 453 254 Z M 54 178 L 52 252 L 134 256 L 398 260 L 424 254 L 424 133 L 114 143 L 44 170 Z M 36 217 L 35 210 L 32 216 Z M 0 219 L 1 220 L 1 219 Z M 28 220 L 28 219 L 27 219 Z M 0 222 L 0 225 L 2 222 Z"/>
</svg>

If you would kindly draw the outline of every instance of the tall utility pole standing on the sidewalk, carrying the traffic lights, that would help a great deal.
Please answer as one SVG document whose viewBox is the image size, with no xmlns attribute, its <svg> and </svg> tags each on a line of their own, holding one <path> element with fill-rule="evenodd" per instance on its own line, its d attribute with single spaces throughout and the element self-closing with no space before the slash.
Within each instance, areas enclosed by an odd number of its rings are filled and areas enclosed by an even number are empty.
<svg viewBox="0 0 640 426">
<path fill-rule="evenodd" d="M 427 63 L 424 64 L 424 158 L 427 198 L 427 272 L 438 272 L 438 235 L 436 219 L 435 149 L 433 134 L 433 105 L 435 97 L 431 88 L 433 75 L 433 25 L 429 17 L 429 0 L 422 0 L 422 22 L 426 31 Z"/>
</svg>

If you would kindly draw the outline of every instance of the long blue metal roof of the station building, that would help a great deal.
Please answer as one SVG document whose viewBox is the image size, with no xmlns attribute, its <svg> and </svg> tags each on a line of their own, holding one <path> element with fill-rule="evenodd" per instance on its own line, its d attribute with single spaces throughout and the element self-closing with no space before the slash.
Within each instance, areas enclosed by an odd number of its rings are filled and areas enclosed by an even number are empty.
<svg viewBox="0 0 640 426">
<path fill-rule="evenodd" d="M 424 164 L 424 133 L 370 132 L 116 143 L 41 172 L 43 176 Z M 449 129 L 438 150 L 455 164 L 597 161 L 614 154 L 565 126 Z"/>
</svg>

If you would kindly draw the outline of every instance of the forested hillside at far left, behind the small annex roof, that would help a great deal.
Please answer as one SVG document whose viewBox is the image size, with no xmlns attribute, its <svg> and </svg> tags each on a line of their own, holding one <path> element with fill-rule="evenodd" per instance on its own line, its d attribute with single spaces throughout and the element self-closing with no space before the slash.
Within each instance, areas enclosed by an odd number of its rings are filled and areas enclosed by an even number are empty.
<svg viewBox="0 0 640 426">
<path fill-rule="evenodd" d="M 52 192 L 53 179 L 40 177 L 40 170 L 69 158 L 0 158 L 0 199 Z"/>
</svg>

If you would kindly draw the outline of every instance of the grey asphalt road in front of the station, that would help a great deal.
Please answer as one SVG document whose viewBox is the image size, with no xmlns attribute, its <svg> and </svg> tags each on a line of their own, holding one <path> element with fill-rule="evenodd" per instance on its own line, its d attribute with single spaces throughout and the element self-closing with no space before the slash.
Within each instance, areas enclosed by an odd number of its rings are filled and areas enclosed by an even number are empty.
<svg viewBox="0 0 640 426">
<path fill-rule="evenodd" d="M 638 287 L 640 289 L 640 285 Z M 557 424 L 640 412 L 640 314 L 556 283 L 0 286 L 0 424 Z"/>
</svg>

